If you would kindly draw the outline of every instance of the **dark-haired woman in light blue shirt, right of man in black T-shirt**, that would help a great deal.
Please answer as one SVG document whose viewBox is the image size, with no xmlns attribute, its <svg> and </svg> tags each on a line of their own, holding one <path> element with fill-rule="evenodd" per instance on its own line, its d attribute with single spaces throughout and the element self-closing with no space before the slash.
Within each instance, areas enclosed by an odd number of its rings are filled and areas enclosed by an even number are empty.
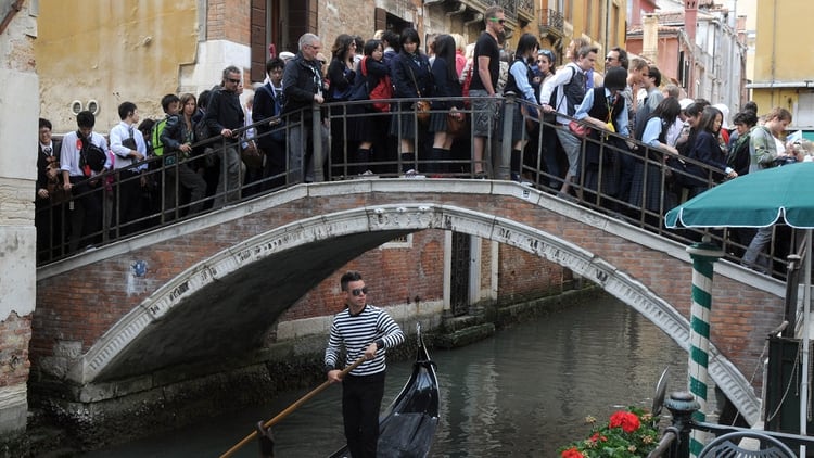
<svg viewBox="0 0 814 458">
<path fill-rule="evenodd" d="M 539 43 L 532 34 L 523 34 L 518 41 L 514 62 L 509 66 L 509 76 L 504 87 L 504 96 L 512 92 L 518 98 L 512 113 L 511 132 L 504 132 L 504 139 L 511 138 L 511 179 L 520 181 L 522 173 L 523 145 L 529 140 L 525 133 L 525 118 L 539 119 L 539 105 L 534 96 L 532 79 L 534 73 L 529 62 L 534 62 Z M 533 123 L 533 122 L 532 122 Z"/>
</svg>

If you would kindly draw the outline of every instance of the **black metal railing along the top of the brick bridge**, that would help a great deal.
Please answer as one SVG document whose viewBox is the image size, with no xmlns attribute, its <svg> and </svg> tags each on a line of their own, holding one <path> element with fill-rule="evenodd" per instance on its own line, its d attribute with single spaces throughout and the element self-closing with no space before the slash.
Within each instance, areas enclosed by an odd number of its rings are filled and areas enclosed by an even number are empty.
<svg viewBox="0 0 814 458">
<path fill-rule="evenodd" d="M 476 99 L 430 100 L 461 106 L 460 112 L 467 119 L 465 129 L 455 136 L 451 149 L 443 150 L 441 155 L 432 153 L 433 133 L 428 131 L 427 124 L 417 120 L 414 107 L 416 99 L 377 100 L 378 103 L 391 102 L 387 112 L 373 110 L 372 102 L 366 100 L 315 104 L 303 112 L 288 114 L 282 118 L 264 119 L 234 130 L 236 136 L 244 136 L 246 132 L 267 127 L 260 129 L 264 130 L 262 133 L 255 135 L 252 139 L 255 142 L 263 142 L 267 136 L 283 133 L 283 141 L 278 143 L 279 148 L 265 152 L 266 161 L 275 155 L 278 163 L 284 164 L 282 169 L 274 174 L 249 170 L 245 164 L 240 162 L 240 170 L 236 171 L 233 156 L 229 158 L 229 150 L 237 148 L 239 151 L 240 143 L 245 139 L 236 141 L 216 137 L 193 144 L 194 152 L 189 157 L 175 157 L 175 161 L 167 160 L 173 157 L 173 154 L 149 157 L 144 161 L 148 170 L 140 176 L 125 179 L 120 178 L 116 170 L 112 170 L 92 177 L 87 180 L 91 186 L 84 194 L 75 193 L 66 202 L 38 205 L 37 212 L 44 214 L 38 215 L 37 219 L 47 221 L 44 224 L 49 225 L 47 232 L 50 237 L 47 243 L 38 244 L 38 265 L 308 181 L 402 177 L 478 178 L 480 176 L 476 176 L 474 170 L 482 168 L 492 179 L 514 178 L 523 185 L 557 194 L 558 183 L 562 182 L 564 173 L 550 171 L 564 171 L 567 165 L 549 167 L 551 161 L 563 162 L 564 155 L 558 147 L 559 142 L 549 143 L 555 147 L 546 148 L 546 144 L 551 141 L 556 129 L 564 127 L 554 124 L 552 120 L 542 120 L 539 116 L 529 115 L 536 112 L 536 106 L 526 101 L 514 97 L 488 98 L 495 113 L 494 116 L 489 116 L 491 133 L 484 140 L 482 158 L 475 160 L 472 152 L 471 103 Z M 518 110 L 518 105 L 522 105 L 523 110 Z M 440 111 L 433 113 L 445 114 Z M 520 158 L 521 169 L 510 170 L 512 154 L 517 152 L 512 152 L 512 144 L 506 139 L 511 138 L 516 113 L 520 113 L 519 116 L 522 116 L 525 126 L 521 153 L 523 157 Z M 323 122 L 309 123 L 308 114 L 311 118 L 321 116 Z M 303 122 L 303 118 L 306 122 Z M 391 131 L 406 135 L 393 136 L 390 135 Z M 326 139 L 325 143 L 315 141 L 322 138 Z M 371 142 L 370 155 L 357 154 L 357 145 L 361 140 Z M 300 147 L 293 148 L 293 143 Z M 552 149 L 556 151 L 552 152 Z M 575 195 L 571 198 L 575 198 L 580 205 L 683 243 L 698 242 L 702 236 L 709 236 L 713 242 L 722 246 L 727 258 L 739 262 L 750 240 L 741 233 L 747 232 L 745 230 L 667 230 L 664 227 L 664 214 L 676 203 L 688 198 L 688 190 L 681 182 L 696 180 L 699 188 L 709 188 L 716 183 L 720 171 L 688 157 L 657 151 L 641 142 L 596 129 L 581 141 L 581 149 L 578 178 L 573 183 Z M 407 150 L 414 154 L 402 154 Z M 517 163 L 518 158 L 514 161 Z M 695 164 L 704 171 L 705 179 L 692 177 L 683 168 L 671 166 L 679 162 Z M 240 178 L 237 179 L 238 185 L 231 185 L 231 188 L 229 180 L 225 180 L 224 186 L 215 191 L 211 189 L 213 186 L 209 186 L 203 199 L 191 202 L 188 190 L 183 189 L 176 178 L 178 167 L 191 167 L 201 176 L 239 174 Z M 408 169 L 418 171 L 416 175 L 405 176 L 404 171 Z M 251 180 L 246 179 L 247 177 Z M 628 187 L 633 187 L 631 183 L 634 177 L 636 192 L 632 193 Z M 145 208 L 138 217 L 125 220 L 125 212 L 119 205 L 119 190 L 131 180 L 139 180 Z M 93 199 L 101 208 L 101 224 L 81 224 L 81 212 L 87 206 L 82 205 L 82 201 L 88 199 Z M 783 244 L 775 242 L 776 239 L 783 239 L 794 246 L 796 240 L 794 234 L 788 236 L 787 228 L 781 225 L 777 226 L 776 232 L 783 237 L 776 238 L 776 234 L 773 234 L 770 245 L 774 267 L 772 273 L 777 278 L 784 278 L 786 262 L 778 258 L 778 253 L 783 254 L 783 250 L 777 249 Z M 733 237 L 734 234 L 739 237 Z"/>
</svg>

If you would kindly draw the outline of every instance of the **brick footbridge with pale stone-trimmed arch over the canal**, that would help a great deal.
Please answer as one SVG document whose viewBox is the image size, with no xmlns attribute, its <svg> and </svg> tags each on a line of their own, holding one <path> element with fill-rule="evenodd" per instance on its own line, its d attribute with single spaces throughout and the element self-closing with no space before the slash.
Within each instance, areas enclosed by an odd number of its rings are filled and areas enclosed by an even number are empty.
<svg viewBox="0 0 814 458">
<path fill-rule="evenodd" d="M 691 265 L 683 245 L 510 182 L 360 180 L 293 187 L 41 268 L 33 359 L 87 387 L 234 357 L 338 268 L 423 229 L 567 267 L 688 348 Z M 139 260 L 143 277 L 133 273 Z M 784 288 L 726 262 L 715 270 L 710 374 L 754 423 L 758 385 L 743 373 L 753 373 L 766 333 L 783 319 Z"/>
</svg>

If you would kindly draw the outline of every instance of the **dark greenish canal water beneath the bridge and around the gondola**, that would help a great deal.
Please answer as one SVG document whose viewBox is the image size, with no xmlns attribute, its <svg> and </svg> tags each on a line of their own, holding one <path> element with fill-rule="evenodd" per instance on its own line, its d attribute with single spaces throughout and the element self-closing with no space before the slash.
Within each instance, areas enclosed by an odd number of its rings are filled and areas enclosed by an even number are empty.
<svg viewBox="0 0 814 458">
<path fill-rule="evenodd" d="M 442 389 L 433 457 L 556 457 L 584 437 L 586 416 L 600 420 L 619 408 L 649 408 L 661 371 L 667 392 L 686 390 L 687 354 L 654 325 L 613 297 L 602 296 L 453 351 L 431 349 Z M 389 365 L 384 405 L 410 372 Z M 173 433 L 85 457 L 218 457 L 309 390 Z M 331 386 L 274 427 L 278 458 L 325 457 L 343 441 L 339 386 Z M 258 456 L 256 443 L 237 457 Z"/>
</svg>

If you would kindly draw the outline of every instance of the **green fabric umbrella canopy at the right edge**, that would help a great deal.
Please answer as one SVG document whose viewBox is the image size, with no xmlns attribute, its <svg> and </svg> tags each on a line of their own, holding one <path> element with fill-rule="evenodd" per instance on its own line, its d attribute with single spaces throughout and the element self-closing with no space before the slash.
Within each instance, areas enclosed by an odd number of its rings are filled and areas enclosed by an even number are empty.
<svg viewBox="0 0 814 458">
<path fill-rule="evenodd" d="M 766 227 L 780 218 L 814 228 L 814 163 L 752 173 L 704 191 L 667 212 L 669 228 Z"/>
</svg>

